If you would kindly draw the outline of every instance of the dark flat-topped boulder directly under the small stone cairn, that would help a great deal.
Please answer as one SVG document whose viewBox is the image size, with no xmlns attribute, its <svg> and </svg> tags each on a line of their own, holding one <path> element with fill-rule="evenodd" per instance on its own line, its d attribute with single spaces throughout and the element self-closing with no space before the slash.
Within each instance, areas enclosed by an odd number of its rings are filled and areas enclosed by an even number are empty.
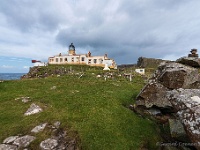
<svg viewBox="0 0 200 150">
<path fill-rule="evenodd" d="M 200 67 L 200 59 L 198 57 L 181 57 L 176 62 L 196 68 Z"/>
</svg>

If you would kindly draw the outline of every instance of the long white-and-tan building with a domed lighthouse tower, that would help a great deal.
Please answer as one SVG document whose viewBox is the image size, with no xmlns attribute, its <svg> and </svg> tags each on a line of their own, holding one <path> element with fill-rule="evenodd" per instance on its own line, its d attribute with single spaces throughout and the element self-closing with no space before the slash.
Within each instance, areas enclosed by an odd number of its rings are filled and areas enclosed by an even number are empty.
<svg viewBox="0 0 200 150">
<path fill-rule="evenodd" d="M 108 65 L 109 68 L 117 68 L 117 65 L 114 59 L 108 58 L 107 54 L 104 56 L 92 56 L 89 51 L 88 54 L 76 54 L 75 46 L 73 43 L 69 45 L 68 54 L 59 54 L 53 57 L 49 57 L 49 64 L 85 64 L 90 66 L 101 66 L 104 67 L 105 64 Z"/>
</svg>

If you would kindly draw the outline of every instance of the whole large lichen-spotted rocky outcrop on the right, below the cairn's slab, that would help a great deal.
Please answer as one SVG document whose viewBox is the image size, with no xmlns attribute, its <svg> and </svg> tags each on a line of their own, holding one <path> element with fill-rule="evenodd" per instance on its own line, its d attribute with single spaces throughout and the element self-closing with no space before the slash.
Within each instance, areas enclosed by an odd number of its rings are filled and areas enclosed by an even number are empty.
<svg viewBox="0 0 200 150">
<path fill-rule="evenodd" d="M 149 114 L 161 124 L 167 124 L 171 142 L 186 143 L 186 146 L 199 150 L 200 90 L 195 89 L 199 87 L 196 68 L 164 62 L 138 94 L 131 108 L 143 116 Z M 167 137 L 167 141 L 170 140 Z"/>
</svg>

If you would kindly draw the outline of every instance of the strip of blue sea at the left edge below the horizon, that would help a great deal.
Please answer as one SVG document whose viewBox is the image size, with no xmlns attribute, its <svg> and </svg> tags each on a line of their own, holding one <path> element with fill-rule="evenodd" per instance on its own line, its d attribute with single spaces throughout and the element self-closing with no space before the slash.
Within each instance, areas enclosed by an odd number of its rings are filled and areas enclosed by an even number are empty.
<svg viewBox="0 0 200 150">
<path fill-rule="evenodd" d="M 0 80 L 20 80 L 26 73 L 0 73 Z"/>
</svg>

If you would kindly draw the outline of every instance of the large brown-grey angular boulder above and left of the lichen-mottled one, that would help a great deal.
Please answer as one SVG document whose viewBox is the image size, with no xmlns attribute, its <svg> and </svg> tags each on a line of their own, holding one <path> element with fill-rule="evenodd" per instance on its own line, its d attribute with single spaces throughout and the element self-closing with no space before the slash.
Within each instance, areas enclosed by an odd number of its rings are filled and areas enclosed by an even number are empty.
<svg viewBox="0 0 200 150">
<path fill-rule="evenodd" d="M 172 107 L 166 92 L 186 88 L 199 79 L 198 70 L 175 62 L 161 63 L 158 70 L 137 96 L 136 106 Z"/>
</svg>

